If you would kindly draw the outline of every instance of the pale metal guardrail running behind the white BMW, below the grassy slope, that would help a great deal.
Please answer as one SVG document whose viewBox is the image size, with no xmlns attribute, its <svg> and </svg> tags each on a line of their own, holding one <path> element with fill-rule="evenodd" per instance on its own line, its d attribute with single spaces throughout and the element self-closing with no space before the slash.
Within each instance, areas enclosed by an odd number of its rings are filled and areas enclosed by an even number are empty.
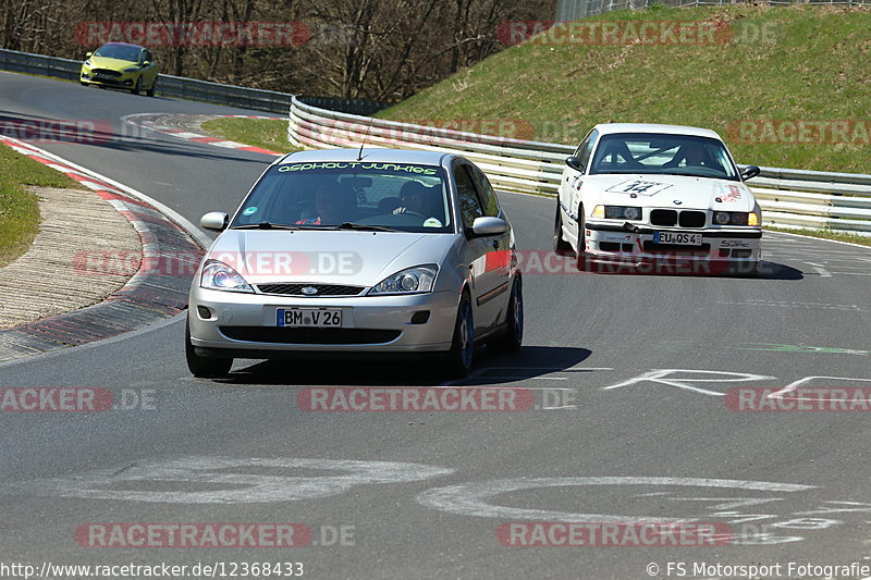
<svg viewBox="0 0 871 580">
<path fill-rule="evenodd" d="M 398 147 L 455 152 L 475 161 L 494 186 L 555 195 L 575 147 L 463 133 L 320 109 L 294 98 L 287 138 L 309 148 Z M 871 175 L 761 168 L 749 182 L 766 225 L 871 235 Z"/>
</svg>

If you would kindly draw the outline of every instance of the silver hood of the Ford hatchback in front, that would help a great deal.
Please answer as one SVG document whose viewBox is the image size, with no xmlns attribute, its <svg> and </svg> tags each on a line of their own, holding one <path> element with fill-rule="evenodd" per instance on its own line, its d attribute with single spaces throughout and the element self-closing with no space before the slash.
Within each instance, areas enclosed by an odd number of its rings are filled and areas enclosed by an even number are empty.
<svg viewBox="0 0 871 580">
<path fill-rule="evenodd" d="M 208 252 L 252 284 L 310 282 L 373 286 L 400 270 L 440 263 L 453 234 L 228 230 Z"/>
</svg>

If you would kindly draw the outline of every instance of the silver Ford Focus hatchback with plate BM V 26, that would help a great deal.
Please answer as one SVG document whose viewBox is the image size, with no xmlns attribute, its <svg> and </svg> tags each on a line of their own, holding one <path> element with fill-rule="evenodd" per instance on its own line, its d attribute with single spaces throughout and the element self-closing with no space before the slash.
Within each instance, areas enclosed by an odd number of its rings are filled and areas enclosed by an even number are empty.
<svg viewBox="0 0 871 580">
<path fill-rule="evenodd" d="M 475 347 L 516 351 L 524 301 L 514 234 L 484 174 L 431 151 L 290 153 L 260 176 L 191 286 L 196 377 L 234 358 L 397 353 L 468 372 Z"/>
</svg>

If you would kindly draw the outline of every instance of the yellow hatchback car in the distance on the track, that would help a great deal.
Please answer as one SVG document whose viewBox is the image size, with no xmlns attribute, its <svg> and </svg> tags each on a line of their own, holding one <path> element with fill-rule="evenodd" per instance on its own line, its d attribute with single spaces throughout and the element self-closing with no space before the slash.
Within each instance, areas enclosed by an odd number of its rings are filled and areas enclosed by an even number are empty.
<svg viewBox="0 0 871 580">
<path fill-rule="evenodd" d="M 157 63 L 151 51 L 139 45 L 107 42 L 85 54 L 79 82 L 84 86 L 124 88 L 155 96 Z"/>
</svg>

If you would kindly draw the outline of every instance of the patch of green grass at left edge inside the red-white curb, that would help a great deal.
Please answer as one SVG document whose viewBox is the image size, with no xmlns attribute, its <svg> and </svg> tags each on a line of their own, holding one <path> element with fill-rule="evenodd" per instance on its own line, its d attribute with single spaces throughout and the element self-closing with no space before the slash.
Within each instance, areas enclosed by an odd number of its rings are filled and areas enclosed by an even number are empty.
<svg viewBox="0 0 871 580">
<path fill-rule="evenodd" d="M 39 231 L 39 202 L 24 187 L 82 188 L 66 175 L 0 146 L 0 267 L 27 251 Z"/>
</svg>

